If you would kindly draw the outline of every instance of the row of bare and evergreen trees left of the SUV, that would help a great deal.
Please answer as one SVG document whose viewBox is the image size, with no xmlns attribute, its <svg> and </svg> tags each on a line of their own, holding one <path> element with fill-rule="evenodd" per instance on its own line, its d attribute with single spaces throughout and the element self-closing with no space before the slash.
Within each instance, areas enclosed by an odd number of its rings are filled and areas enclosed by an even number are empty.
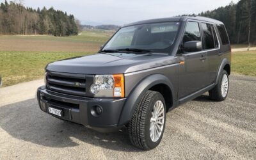
<svg viewBox="0 0 256 160">
<path fill-rule="evenodd" d="M 74 15 L 45 7 L 40 10 L 20 3 L 4 1 L 0 5 L 0 34 L 2 35 L 77 35 L 79 20 Z"/>
</svg>

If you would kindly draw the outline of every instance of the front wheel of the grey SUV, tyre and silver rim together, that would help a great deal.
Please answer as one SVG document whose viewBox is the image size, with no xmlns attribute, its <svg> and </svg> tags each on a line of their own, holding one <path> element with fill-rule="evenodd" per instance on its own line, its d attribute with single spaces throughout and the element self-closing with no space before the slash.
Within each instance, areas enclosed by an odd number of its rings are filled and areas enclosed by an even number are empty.
<svg viewBox="0 0 256 160">
<path fill-rule="evenodd" d="M 158 118 L 156 116 L 158 111 L 156 108 L 161 109 L 158 112 Z M 153 113 L 156 114 L 153 116 Z M 128 124 L 129 138 L 132 145 L 143 150 L 156 148 L 163 138 L 165 120 L 166 106 L 163 95 L 159 92 L 147 91 L 136 105 L 131 122 Z M 157 128 L 157 125 L 159 128 Z M 155 128 L 157 128 L 159 134 L 152 134 L 153 131 L 156 131 Z"/>
</svg>

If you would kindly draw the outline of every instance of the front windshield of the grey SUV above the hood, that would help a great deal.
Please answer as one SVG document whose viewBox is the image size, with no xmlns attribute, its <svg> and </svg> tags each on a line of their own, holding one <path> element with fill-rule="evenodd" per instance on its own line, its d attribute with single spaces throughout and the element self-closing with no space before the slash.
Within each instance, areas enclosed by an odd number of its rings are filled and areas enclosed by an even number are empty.
<svg viewBox="0 0 256 160">
<path fill-rule="evenodd" d="M 168 53 L 177 35 L 179 24 L 179 22 L 164 22 L 121 28 L 102 51 L 144 49 Z"/>
</svg>

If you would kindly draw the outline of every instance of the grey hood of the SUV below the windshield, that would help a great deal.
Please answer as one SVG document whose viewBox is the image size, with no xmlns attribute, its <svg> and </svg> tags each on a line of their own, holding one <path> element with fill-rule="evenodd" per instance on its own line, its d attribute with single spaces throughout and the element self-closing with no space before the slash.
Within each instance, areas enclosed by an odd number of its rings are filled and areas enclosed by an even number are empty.
<svg viewBox="0 0 256 160">
<path fill-rule="evenodd" d="M 45 69 L 74 74 L 123 74 L 173 63 L 179 60 L 168 54 L 109 53 L 55 61 Z"/>
</svg>

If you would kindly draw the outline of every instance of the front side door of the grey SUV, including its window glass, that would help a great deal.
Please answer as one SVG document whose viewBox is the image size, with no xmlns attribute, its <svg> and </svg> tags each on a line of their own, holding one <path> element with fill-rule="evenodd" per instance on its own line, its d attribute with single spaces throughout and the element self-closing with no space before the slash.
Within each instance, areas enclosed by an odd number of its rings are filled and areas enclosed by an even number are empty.
<svg viewBox="0 0 256 160">
<path fill-rule="evenodd" d="M 202 33 L 199 22 L 188 21 L 182 44 L 189 41 L 201 41 Z M 181 45 L 182 45 L 181 44 Z M 182 52 L 184 64 L 180 65 L 179 99 L 194 93 L 207 86 L 207 51 Z"/>
</svg>

